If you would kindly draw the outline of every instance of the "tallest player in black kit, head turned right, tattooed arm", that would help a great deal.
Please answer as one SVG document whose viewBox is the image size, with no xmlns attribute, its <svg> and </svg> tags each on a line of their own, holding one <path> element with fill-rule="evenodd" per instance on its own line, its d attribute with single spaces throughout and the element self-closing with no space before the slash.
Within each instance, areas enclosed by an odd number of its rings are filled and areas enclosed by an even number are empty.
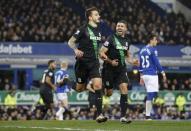
<svg viewBox="0 0 191 131">
<path fill-rule="evenodd" d="M 78 92 L 84 91 L 88 80 L 92 81 L 95 90 L 98 123 L 107 121 L 102 114 L 102 80 L 99 72 L 98 46 L 101 43 L 101 32 L 98 29 L 100 15 L 95 7 L 86 10 L 88 23 L 82 26 L 69 39 L 68 44 L 76 55 L 75 75 Z M 77 46 L 78 43 L 78 46 Z"/>
</svg>

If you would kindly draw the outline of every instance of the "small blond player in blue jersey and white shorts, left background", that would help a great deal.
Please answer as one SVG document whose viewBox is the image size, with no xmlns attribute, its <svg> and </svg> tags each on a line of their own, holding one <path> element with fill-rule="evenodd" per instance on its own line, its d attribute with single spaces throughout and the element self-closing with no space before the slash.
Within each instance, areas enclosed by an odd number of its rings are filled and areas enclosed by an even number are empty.
<svg viewBox="0 0 191 131">
<path fill-rule="evenodd" d="M 56 112 L 56 119 L 63 120 L 63 113 L 68 110 L 68 86 L 69 74 L 67 72 L 68 63 L 63 61 L 60 64 L 61 68 L 55 74 L 55 81 L 57 85 L 56 97 L 59 102 L 59 109 Z"/>
</svg>

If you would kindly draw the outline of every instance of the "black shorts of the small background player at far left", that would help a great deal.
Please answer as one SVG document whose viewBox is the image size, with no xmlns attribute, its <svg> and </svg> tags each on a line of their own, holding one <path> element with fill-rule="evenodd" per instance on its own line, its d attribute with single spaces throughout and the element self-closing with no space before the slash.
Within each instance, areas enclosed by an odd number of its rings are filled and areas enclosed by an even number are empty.
<svg viewBox="0 0 191 131">
<path fill-rule="evenodd" d="M 40 97 L 42 98 L 45 105 L 49 106 L 53 103 L 53 93 L 50 87 L 41 87 L 40 88 Z"/>
</svg>

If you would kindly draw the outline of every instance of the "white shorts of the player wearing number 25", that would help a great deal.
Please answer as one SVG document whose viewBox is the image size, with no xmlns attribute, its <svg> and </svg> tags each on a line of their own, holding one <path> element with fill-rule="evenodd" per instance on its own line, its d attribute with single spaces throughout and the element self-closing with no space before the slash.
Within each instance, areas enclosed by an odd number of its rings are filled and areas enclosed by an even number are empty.
<svg viewBox="0 0 191 131">
<path fill-rule="evenodd" d="M 143 75 L 142 78 L 147 92 L 159 91 L 158 75 Z"/>
</svg>

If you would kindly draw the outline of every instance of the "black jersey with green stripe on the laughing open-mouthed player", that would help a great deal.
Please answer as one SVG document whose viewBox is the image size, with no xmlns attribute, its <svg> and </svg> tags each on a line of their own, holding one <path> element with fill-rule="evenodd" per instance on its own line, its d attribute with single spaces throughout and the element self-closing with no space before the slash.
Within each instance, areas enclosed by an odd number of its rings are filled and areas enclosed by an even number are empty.
<svg viewBox="0 0 191 131">
<path fill-rule="evenodd" d="M 127 56 L 127 52 L 130 47 L 130 39 L 128 37 L 121 37 L 117 34 L 111 35 L 104 42 L 103 46 L 108 48 L 106 55 L 111 59 L 118 59 L 119 65 L 118 67 L 126 67 L 125 57 Z M 104 66 L 110 66 L 111 64 L 105 63 Z"/>
</svg>

